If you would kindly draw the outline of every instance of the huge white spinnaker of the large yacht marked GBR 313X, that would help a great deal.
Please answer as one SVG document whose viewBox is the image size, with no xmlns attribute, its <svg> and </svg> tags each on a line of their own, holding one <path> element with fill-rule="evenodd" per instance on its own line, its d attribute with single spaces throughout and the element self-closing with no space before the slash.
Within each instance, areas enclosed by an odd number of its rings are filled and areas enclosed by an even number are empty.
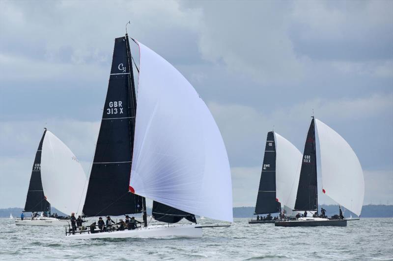
<svg viewBox="0 0 393 261">
<path fill-rule="evenodd" d="M 233 221 L 225 145 L 184 76 L 139 43 L 140 75 L 130 186 L 192 214 Z"/>
</svg>

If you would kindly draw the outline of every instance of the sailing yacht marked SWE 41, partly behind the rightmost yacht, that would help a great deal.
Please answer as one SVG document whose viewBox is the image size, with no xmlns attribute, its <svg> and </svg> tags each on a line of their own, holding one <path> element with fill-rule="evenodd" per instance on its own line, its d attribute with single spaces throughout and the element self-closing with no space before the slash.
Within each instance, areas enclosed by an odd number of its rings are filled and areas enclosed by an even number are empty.
<svg viewBox="0 0 393 261">
<path fill-rule="evenodd" d="M 294 192 L 302 161 L 300 151 L 276 132 L 267 133 L 265 154 L 254 214 L 281 213 L 286 206 L 294 207 Z M 250 220 L 249 224 L 274 223 L 272 219 Z"/>
</svg>

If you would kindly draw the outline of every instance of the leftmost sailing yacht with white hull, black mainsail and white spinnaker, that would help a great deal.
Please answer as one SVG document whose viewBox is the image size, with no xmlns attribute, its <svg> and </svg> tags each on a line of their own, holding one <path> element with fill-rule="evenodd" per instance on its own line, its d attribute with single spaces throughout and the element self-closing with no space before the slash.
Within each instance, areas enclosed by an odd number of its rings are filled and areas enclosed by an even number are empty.
<svg viewBox="0 0 393 261">
<path fill-rule="evenodd" d="M 24 220 L 15 220 L 15 224 L 68 226 L 67 220 L 50 217 L 51 204 L 49 201 L 65 214 L 69 215 L 71 212 L 77 211 L 85 182 L 86 175 L 75 155 L 45 128 L 35 154 L 24 209 L 24 212 L 33 214 L 31 217 L 25 216 Z M 41 215 L 38 215 L 38 212 L 41 212 Z M 78 212 L 82 213 L 82 210 Z M 48 216 L 44 216 L 43 213 L 47 213 Z"/>
</svg>

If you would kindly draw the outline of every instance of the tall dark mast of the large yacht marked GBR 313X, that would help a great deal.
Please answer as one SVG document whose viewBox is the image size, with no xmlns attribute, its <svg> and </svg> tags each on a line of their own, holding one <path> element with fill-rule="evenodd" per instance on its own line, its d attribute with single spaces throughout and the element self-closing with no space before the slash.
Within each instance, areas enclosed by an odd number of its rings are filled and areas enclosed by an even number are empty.
<svg viewBox="0 0 393 261">
<path fill-rule="evenodd" d="M 137 115 L 137 98 L 136 98 L 136 91 L 135 91 L 135 82 L 134 82 L 134 71 L 132 69 L 132 56 L 131 56 L 131 47 L 130 47 L 130 42 L 128 40 L 128 33 L 127 33 L 127 27 L 126 27 L 126 48 L 127 48 L 127 63 L 128 63 L 128 68 L 130 68 L 130 86 L 131 86 L 131 92 L 129 92 L 129 99 L 132 102 L 133 106 L 130 108 L 133 110 L 134 115 Z M 131 135 L 131 146 L 134 144 L 134 133 L 135 133 L 135 117 L 133 118 L 134 124 L 134 130 L 132 132 L 130 131 Z M 131 155 L 132 157 L 132 155 Z M 132 163 L 131 163 L 132 165 Z M 131 174 L 131 173 L 130 173 Z M 143 210 L 143 226 L 147 227 L 147 212 L 146 212 L 146 198 L 142 197 L 142 210 Z"/>
</svg>

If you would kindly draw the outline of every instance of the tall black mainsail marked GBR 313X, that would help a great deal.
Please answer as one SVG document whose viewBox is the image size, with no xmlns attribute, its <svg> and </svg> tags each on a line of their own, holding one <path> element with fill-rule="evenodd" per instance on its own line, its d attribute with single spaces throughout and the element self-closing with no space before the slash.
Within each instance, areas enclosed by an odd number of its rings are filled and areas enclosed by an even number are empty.
<svg viewBox="0 0 393 261">
<path fill-rule="evenodd" d="M 129 191 L 136 103 L 127 43 L 126 37 L 114 42 L 111 76 L 83 209 L 88 216 L 142 211 L 142 197 Z"/>
</svg>

